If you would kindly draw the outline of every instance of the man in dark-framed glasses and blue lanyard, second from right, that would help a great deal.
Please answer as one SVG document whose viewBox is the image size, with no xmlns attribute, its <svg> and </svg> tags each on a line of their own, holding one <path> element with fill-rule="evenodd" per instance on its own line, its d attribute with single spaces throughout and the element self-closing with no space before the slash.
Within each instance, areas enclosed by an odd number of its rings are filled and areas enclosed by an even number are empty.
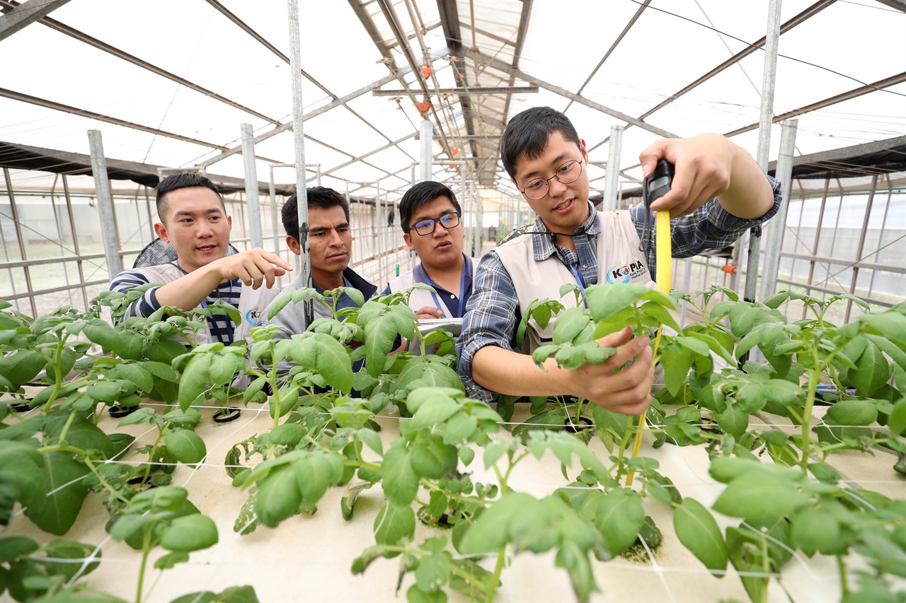
<svg viewBox="0 0 906 603">
<path fill-rule="evenodd" d="M 412 290 L 410 308 L 419 320 L 461 318 L 472 294 L 472 259 L 462 252 L 462 208 L 456 195 L 439 182 L 419 182 L 400 200 L 403 240 L 419 254 L 419 265 L 400 274 L 384 293 L 405 292 L 416 282 L 433 292 Z"/>
</svg>

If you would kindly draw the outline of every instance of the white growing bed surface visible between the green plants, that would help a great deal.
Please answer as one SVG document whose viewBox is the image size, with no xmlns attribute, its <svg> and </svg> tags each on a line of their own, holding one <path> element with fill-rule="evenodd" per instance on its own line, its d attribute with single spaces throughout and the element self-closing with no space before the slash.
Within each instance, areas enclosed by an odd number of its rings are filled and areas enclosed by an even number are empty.
<svg viewBox="0 0 906 603">
<path fill-rule="evenodd" d="M 159 411 L 162 407 L 158 408 Z M 821 410 L 821 409 L 819 409 Z M 33 411 L 36 412 L 36 411 Z M 276 529 L 259 527 L 255 532 L 239 536 L 233 524 L 246 502 L 246 491 L 235 488 L 226 475 L 224 458 L 232 445 L 255 434 L 264 433 L 273 425 L 265 409 L 248 408 L 236 421 L 215 424 L 212 410 L 201 409 L 204 417 L 196 431 L 207 445 L 207 459 L 193 468 L 180 464 L 173 474 L 173 485 L 188 489 L 189 500 L 217 523 L 219 542 L 214 547 L 194 552 L 188 563 L 180 564 L 161 575 L 154 570 L 153 560 L 166 553 L 158 549 L 149 557 L 143 600 L 168 602 L 188 592 L 212 590 L 220 592 L 231 586 L 250 584 L 262 601 L 388 601 L 405 600 L 406 589 L 413 581 L 407 574 L 397 592 L 399 560 L 376 560 L 363 575 L 353 575 L 352 560 L 374 544 L 374 518 L 383 504 L 380 486 L 365 490 L 355 507 L 351 521 L 344 521 L 340 499 L 345 487 L 332 488 L 312 516 L 295 515 Z M 527 407 L 517 407 L 514 421 L 528 416 Z M 381 424 L 385 449 L 399 436 L 399 416 L 387 414 L 376 417 Z M 757 417 L 753 417 L 753 423 Z M 105 415 L 101 428 L 107 432 L 120 431 L 137 436 L 136 445 L 149 441 L 156 430 L 147 425 L 117 428 L 119 419 Z M 769 427 L 766 427 L 769 428 Z M 496 437 L 509 437 L 502 430 Z M 593 438 L 590 446 L 599 455 L 608 453 L 601 441 Z M 679 492 L 709 506 L 723 488 L 708 475 L 708 455 L 703 446 L 651 447 L 646 436 L 641 455 L 657 459 L 660 473 L 669 476 Z M 892 470 L 895 457 L 881 451 L 872 455 L 843 453 L 832 457 L 832 464 L 852 485 L 860 485 L 887 496 L 906 498 L 904 480 Z M 493 483 L 493 472 L 483 468 L 480 455 L 466 469 L 473 480 Z M 570 477 L 578 473 L 573 467 Z M 561 474 L 554 455 L 545 454 L 541 461 L 534 457 L 517 465 L 510 477 L 512 489 L 542 497 L 563 487 L 567 482 Z M 618 558 L 606 563 L 594 562 L 595 578 L 601 592 L 593 593 L 593 601 L 716 601 L 718 599 L 747 600 L 747 594 L 732 566 L 728 575 L 718 578 L 695 559 L 673 533 L 670 509 L 663 503 L 646 499 L 645 508 L 664 534 L 664 541 L 655 550 L 653 559 L 627 560 Z M 737 525 L 738 521 L 715 516 L 721 527 Z M 104 530 L 109 519 L 101 504 L 101 495 L 92 493 L 85 500 L 82 514 L 63 538 L 96 546 L 102 551 L 101 566 L 88 575 L 93 589 L 101 589 L 120 598 L 134 600 L 138 584 L 140 552 L 123 542 L 111 539 Z M 419 524 L 416 541 L 446 533 Z M 40 543 L 54 538 L 38 530 L 17 509 L 3 536 L 26 535 Z M 451 549 L 452 550 L 452 549 Z M 454 551 L 455 554 L 455 551 Z M 856 561 L 858 562 L 858 561 Z M 483 562 L 493 569 L 493 560 Z M 554 554 L 517 554 L 509 560 L 498 590 L 500 601 L 569 601 L 573 590 L 564 570 L 554 567 Z M 801 552 L 786 563 L 783 584 L 797 602 L 831 601 L 840 598 L 836 562 L 820 555 L 808 559 Z M 452 600 L 463 597 L 449 591 Z M 788 600 L 783 589 L 772 580 L 768 590 L 772 601 Z M 9 593 L 0 597 L 12 600 Z"/>
</svg>

